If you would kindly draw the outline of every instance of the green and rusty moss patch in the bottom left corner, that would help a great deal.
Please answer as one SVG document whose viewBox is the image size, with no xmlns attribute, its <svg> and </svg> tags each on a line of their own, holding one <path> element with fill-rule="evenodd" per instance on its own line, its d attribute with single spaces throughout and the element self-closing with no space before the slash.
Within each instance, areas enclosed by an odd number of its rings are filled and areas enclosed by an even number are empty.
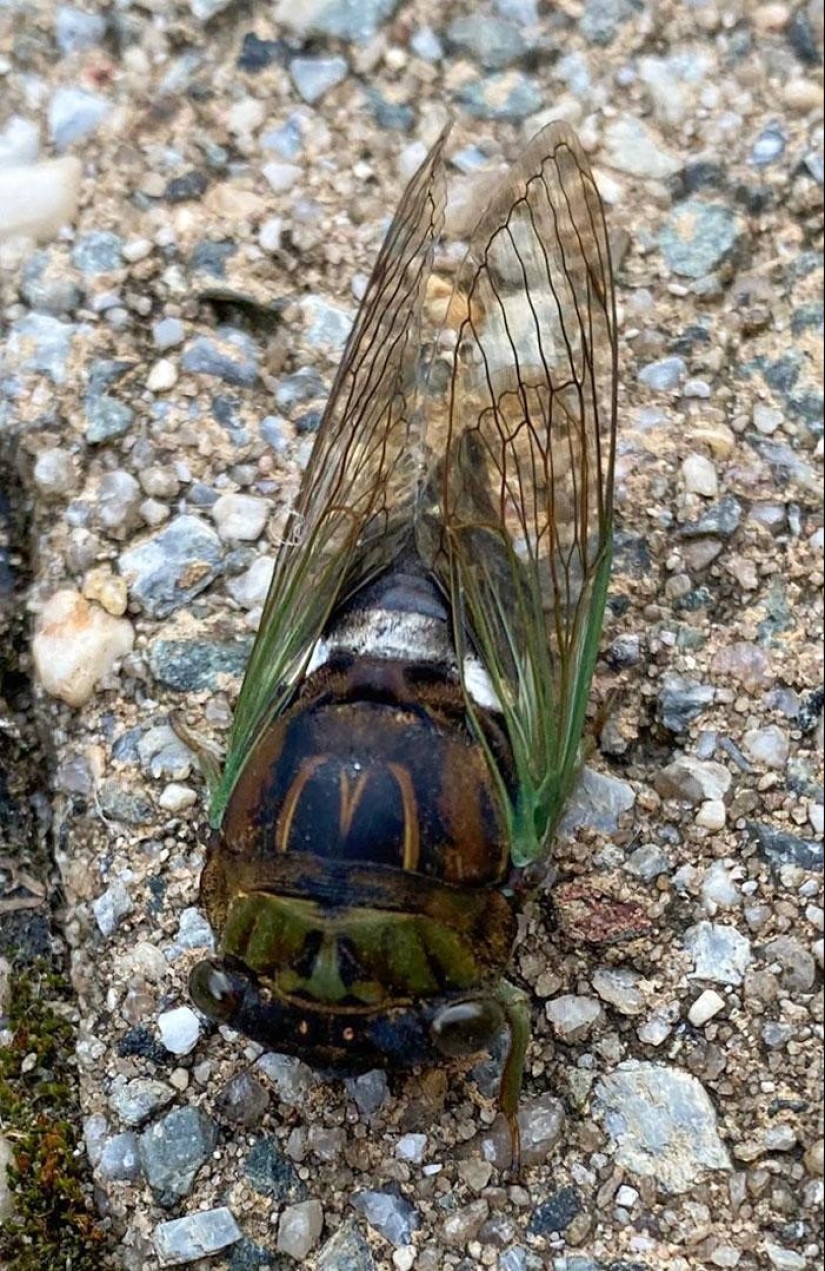
<svg viewBox="0 0 825 1271">
<path fill-rule="evenodd" d="M 14 1152 L 14 1218 L 0 1228 L 9 1271 L 99 1271 L 104 1234 L 92 1204 L 74 1096 L 71 993 L 52 965 L 15 969 L 0 1047 L 0 1122 Z"/>
</svg>

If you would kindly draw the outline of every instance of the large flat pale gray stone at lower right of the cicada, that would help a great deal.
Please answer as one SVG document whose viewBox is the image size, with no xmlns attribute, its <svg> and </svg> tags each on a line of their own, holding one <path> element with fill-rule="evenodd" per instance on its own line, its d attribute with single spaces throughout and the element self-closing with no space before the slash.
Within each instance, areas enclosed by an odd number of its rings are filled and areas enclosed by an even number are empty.
<svg viewBox="0 0 825 1271">
<path fill-rule="evenodd" d="M 594 1111 L 615 1141 L 617 1162 L 681 1193 L 706 1171 L 730 1169 L 704 1087 L 689 1073 L 629 1060 L 595 1087 Z"/>
</svg>

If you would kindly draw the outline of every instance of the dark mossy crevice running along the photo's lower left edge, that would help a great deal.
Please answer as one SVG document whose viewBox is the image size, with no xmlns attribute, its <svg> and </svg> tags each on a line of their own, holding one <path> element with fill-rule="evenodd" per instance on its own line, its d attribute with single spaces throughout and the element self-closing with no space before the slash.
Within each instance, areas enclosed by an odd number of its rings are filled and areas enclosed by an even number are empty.
<svg viewBox="0 0 825 1271">
<path fill-rule="evenodd" d="M 27 503 L 0 441 L 0 1125 L 14 1153 L 9 1271 L 102 1263 L 75 1070 L 76 1009 L 55 920 L 51 769 L 29 674 Z"/>
</svg>

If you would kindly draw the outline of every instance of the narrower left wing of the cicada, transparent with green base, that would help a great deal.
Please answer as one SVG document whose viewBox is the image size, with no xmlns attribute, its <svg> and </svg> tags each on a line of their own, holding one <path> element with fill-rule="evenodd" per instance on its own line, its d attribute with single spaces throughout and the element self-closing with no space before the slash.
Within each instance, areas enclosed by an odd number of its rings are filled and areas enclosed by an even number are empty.
<svg viewBox="0 0 825 1271">
<path fill-rule="evenodd" d="M 411 534 L 421 465 L 411 414 L 421 302 L 444 216 L 446 132 L 404 191 L 336 375 L 212 792 L 214 825 L 333 608 L 389 564 Z"/>
</svg>

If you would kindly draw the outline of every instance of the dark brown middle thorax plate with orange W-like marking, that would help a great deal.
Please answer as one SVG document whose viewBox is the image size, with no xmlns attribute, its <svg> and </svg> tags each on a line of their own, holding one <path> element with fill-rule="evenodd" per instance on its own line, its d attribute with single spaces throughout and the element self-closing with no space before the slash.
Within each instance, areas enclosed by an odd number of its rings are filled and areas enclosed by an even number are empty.
<svg viewBox="0 0 825 1271">
<path fill-rule="evenodd" d="M 507 868 L 489 770 L 461 690 L 386 660 L 310 676 L 233 792 L 225 846 L 300 853 L 484 886 Z"/>
</svg>

